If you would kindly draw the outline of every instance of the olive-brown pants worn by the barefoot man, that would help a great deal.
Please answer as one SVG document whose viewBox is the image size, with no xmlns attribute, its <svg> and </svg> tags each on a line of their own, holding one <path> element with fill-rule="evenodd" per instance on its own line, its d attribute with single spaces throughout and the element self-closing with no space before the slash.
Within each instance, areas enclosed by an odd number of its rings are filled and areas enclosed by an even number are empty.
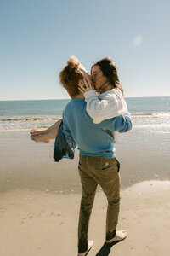
<svg viewBox="0 0 170 256">
<path fill-rule="evenodd" d="M 116 158 L 80 156 L 78 170 L 82 182 L 82 200 L 78 224 L 78 253 L 88 250 L 88 224 L 98 184 L 108 200 L 105 239 L 110 240 L 116 236 L 120 204 L 119 168 Z"/>
</svg>

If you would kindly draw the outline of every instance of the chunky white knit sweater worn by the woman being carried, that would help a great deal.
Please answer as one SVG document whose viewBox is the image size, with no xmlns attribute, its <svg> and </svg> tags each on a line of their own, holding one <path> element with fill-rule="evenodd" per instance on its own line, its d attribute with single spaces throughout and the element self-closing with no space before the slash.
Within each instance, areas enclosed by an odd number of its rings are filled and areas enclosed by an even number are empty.
<svg viewBox="0 0 170 256">
<path fill-rule="evenodd" d="M 87 102 L 86 110 L 95 124 L 127 113 L 127 103 L 118 88 L 107 90 L 99 96 L 94 90 L 88 90 L 84 97 Z"/>
</svg>

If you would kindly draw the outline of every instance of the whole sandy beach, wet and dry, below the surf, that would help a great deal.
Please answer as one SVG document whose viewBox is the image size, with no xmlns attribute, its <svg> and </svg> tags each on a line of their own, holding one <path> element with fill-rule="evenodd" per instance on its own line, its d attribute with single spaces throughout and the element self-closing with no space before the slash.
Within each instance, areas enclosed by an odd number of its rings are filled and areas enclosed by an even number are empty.
<svg viewBox="0 0 170 256">
<path fill-rule="evenodd" d="M 2 132 L 0 139 L 0 255 L 77 255 L 78 152 L 74 160 L 55 163 L 54 142 L 34 143 L 28 131 Z M 116 143 L 116 157 L 122 164 L 118 230 L 127 230 L 128 236 L 109 255 L 168 255 L 168 142 L 164 135 L 142 137 L 129 132 Z M 89 227 L 89 239 L 94 239 L 89 256 L 104 244 L 106 207 L 105 195 L 98 189 Z"/>
</svg>

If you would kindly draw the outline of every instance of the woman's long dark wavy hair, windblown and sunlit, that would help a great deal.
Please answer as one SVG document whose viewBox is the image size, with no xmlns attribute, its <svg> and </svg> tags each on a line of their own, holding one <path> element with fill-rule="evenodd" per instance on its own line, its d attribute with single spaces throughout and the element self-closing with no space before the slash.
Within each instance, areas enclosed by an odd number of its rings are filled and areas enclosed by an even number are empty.
<svg viewBox="0 0 170 256">
<path fill-rule="evenodd" d="M 113 88 L 116 88 L 116 87 L 119 88 L 122 91 L 122 95 L 123 95 L 122 85 L 118 78 L 116 62 L 113 61 L 111 57 L 105 57 L 104 59 L 94 63 L 94 65 L 91 67 L 91 73 L 92 73 L 92 68 L 95 65 L 98 65 L 100 67 L 108 83 L 113 85 Z"/>
</svg>

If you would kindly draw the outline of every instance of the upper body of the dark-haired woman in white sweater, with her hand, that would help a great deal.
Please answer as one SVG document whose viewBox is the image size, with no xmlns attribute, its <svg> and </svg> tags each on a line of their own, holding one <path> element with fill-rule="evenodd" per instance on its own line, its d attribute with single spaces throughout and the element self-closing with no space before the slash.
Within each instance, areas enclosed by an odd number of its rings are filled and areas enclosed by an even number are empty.
<svg viewBox="0 0 170 256">
<path fill-rule="evenodd" d="M 127 103 L 123 97 L 115 61 L 110 57 L 97 61 L 91 68 L 91 76 L 94 84 L 85 80 L 80 84 L 80 91 L 85 97 L 87 112 L 94 119 L 94 123 L 99 124 L 105 119 L 127 113 Z M 99 96 L 94 88 L 100 93 Z"/>
</svg>

